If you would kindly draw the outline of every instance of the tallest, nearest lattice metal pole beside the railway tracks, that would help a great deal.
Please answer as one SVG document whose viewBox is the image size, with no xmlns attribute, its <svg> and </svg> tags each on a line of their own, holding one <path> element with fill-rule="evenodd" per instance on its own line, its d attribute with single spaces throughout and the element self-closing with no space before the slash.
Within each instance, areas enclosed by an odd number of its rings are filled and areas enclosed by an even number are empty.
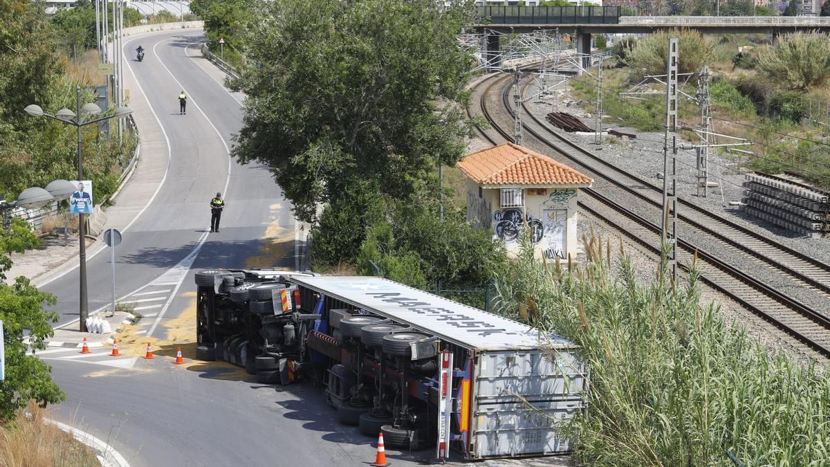
<svg viewBox="0 0 830 467">
<path fill-rule="evenodd" d="M 677 59 L 678 40 L 669 39 L 666 57 L 666 136 L 663 139 L 663 226 L 662 242 L 671 281 L 677 279 Z"/>
</svg>

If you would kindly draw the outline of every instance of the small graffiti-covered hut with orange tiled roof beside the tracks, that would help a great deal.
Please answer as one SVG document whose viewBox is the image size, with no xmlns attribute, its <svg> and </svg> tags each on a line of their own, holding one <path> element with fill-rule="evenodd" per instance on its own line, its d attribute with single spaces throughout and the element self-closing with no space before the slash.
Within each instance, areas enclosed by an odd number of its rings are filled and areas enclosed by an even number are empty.
<svg viewBox="0 0 830 467">
<path fill-rule="evenodd" d="M 467 177 L 467 220 L 492 230 L 512 255 L 531 229 L 540 256 L 576 257 L 577 196 L 593 179 L 513 143 L 468 154 L 458 168 Z"/>
</svg>

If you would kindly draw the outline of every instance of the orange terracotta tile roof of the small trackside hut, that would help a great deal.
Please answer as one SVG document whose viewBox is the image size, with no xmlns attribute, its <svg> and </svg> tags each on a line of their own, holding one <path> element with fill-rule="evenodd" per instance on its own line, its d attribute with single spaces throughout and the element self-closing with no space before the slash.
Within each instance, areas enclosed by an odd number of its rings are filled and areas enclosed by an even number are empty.
<svg viewBox="0 0 830 467">
<path fill-rule="evenodd" d="M 482 185 L 582 185 L 593 179 L 520 145 L 505 143 L 465 155 L 458 168 Z"/>
</svg>

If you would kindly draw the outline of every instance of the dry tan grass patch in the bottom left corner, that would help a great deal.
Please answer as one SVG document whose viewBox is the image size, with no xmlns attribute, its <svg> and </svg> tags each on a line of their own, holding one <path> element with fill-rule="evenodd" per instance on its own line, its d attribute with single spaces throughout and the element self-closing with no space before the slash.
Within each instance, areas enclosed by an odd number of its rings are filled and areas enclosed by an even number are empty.
<svg viewBox="0 0 830 467">
<path fill-rule="evenodd" d="M 95 451 L 54 425 L 46 410 L 30 403 L 7 425 L 0 426 L 2 467 L 90 467 L 100 465 Z"/>
</svg>

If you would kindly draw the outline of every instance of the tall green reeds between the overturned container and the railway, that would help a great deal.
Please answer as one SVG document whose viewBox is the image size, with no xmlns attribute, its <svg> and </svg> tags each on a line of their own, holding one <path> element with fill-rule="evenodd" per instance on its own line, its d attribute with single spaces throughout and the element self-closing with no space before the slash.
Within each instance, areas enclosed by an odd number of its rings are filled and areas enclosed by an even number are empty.
<svg viewBox="0 0 830 467">
<path fill-rule="evenodd" d="M 496 284 L 501 312 L 582 346 L 588 410 L 565 427 L 580 461 L 830 465 L 828 376 L 725 322 L 696 273 L 674 288 L 664 262 L 640 283 L 622 243 L 612 261 L 610 243 L 583 242 L 583 264 L 526 249 Z"/>
</svg>

